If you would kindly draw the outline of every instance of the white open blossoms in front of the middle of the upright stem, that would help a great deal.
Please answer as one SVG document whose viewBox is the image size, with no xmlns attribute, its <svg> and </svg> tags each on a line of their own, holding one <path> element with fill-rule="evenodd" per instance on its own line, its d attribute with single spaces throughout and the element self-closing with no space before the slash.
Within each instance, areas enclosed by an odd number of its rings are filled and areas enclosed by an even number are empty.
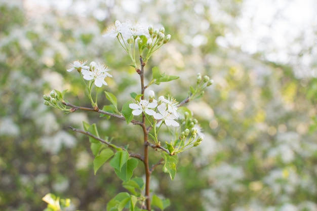
<svg viewBox="0 0 317 211">
<path fill-rule="evenodd" d="M 156 120 L 162 119 L 157 125 L 164 122 L 167 126 L 179 126 L 179 123 L 175 121 L 178 118 L 177 106 L 178 102 L 172 97 L 165 99 L 164 96 L 159 98 L 157 102 L 154 99 L 154 92 L 149 91 L 148 93 L 149 100 L 140 100 L 137 103 L 130 103 L 129 107 L 132 108 L 133 115 L 140 115 L 141 113 L 146 113 L 150 116 L 153 116 Z M 153 110 L 154 109 L 154 110 Z M 156 113 L 155 110 L 159 110 L 159 113 Z"/>
</svg>

